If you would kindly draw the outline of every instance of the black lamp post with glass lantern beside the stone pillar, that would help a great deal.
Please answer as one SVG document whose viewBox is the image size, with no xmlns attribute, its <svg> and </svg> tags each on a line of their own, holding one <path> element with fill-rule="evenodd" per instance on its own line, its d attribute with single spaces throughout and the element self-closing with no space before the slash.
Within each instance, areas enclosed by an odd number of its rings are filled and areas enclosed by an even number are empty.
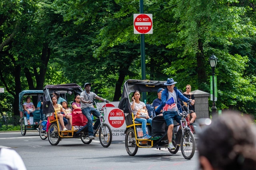
<svg viewBox="0 0 256 170">
<path fill-rule="evenodd" d="M 216 64 L 217 64 L 217 61 L 218 61 L 218 58 L 215 56 L 215 55 L 211 55 L 210 58 L 209 58 L 209 63 L 212 67 L 212 117 L 215 116 L 216 114 L 216 106 L 215 106 L 215 96 L 214 96 L 214 71 L 215 71 L 215 67 L 216 67 Z"/>
</svg>

